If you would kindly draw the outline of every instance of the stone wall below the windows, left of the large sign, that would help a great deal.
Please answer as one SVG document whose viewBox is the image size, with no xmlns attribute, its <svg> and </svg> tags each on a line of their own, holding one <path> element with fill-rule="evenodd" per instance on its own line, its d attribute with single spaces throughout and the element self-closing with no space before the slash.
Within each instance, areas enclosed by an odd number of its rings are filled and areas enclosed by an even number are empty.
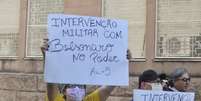
<svg viewBox="0 0 201 101">
<path fill-rule="evenodd" d="M 42 61 L 1 60 L 0 101 L 44 101 Z"/>
</svg>

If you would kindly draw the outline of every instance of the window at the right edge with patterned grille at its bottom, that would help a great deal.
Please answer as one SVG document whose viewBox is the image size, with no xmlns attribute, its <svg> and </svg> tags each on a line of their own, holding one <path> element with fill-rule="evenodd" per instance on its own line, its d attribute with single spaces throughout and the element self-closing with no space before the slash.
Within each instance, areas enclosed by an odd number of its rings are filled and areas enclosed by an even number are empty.
<svg viewBox="0 0 201 101">
<path fill-rule="evenodd" d="M 156 57 L 201 57 L 200 5 L 200 0 L 157 0 Z"/>
</svg>

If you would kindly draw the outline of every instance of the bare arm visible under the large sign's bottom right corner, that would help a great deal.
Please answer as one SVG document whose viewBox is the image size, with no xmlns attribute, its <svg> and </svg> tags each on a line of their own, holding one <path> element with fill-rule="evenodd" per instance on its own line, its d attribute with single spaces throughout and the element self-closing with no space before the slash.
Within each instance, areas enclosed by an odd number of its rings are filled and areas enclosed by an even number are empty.
<svg viewBox="0 0 201 101">
<path fill-rule="evenodd" d="M 100 94 L 100 101 L 106 101 L 106 99 L 110 96 L 110 93 L 113 91 L 114 86 L 103 86 L 100 87 L 99 94 Z"/>
</svg>

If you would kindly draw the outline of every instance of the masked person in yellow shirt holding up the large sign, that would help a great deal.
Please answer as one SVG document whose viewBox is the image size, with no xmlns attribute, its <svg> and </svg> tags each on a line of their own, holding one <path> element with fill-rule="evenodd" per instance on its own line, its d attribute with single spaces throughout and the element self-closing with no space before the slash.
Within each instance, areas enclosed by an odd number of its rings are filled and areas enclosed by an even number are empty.
<svg viewBox="0 0 201 101">
<path fill-rule="evenodd" d="M 45 51 L 48 50 L 48 39 L 44 39 L 41 51 L 45 59 Z M 127 50 L 127 59 L 131 58 L 131 53 Z M 85 85 L 53 84 L 47 83 L 46 101 L 106 101 L 114 86 L 102 86 L 90 94 L 86 94 Z"/>
</svg>

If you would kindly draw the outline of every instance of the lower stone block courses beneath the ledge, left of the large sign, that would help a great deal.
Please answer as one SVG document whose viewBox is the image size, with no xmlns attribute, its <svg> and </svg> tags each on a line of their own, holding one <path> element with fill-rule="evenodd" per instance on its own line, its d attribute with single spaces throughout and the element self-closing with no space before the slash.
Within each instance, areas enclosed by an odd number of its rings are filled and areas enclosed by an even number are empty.
<svg viewBox="0 0 201 101">
<path fill-rule="evenodd" d="M 0 101 L 44 101 L 41 74 L 0 73 Z"/>
</svg>

